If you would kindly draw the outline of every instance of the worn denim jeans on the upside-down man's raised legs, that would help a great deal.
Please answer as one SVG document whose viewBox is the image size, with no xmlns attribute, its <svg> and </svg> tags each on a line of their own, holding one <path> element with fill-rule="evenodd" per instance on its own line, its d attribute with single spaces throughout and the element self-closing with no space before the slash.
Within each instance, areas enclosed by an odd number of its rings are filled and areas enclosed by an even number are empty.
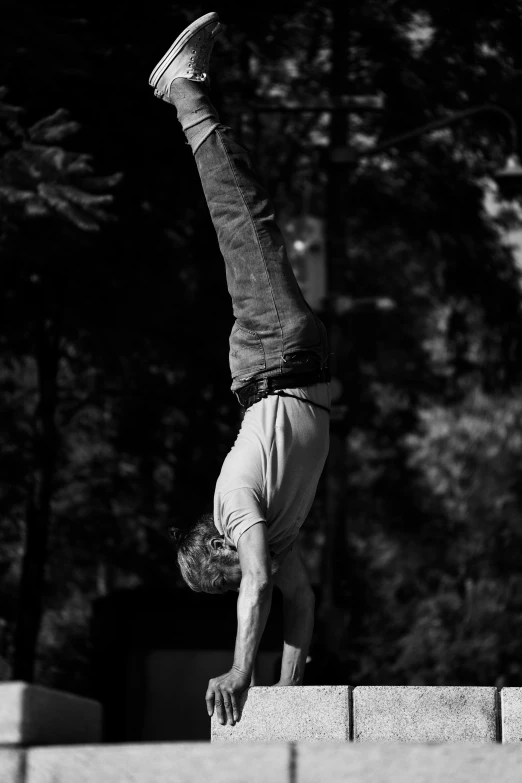
<svg viewBox="0 0 522 783">
<path fill-rule="evenodd" d="M 326 329 L 301 293 L 250 154 L 230 128 L 218 125 L 195 160 L 235 317 L 229 354 L 232 391 L 254 378 L 324 367 Z"/>
</svg>

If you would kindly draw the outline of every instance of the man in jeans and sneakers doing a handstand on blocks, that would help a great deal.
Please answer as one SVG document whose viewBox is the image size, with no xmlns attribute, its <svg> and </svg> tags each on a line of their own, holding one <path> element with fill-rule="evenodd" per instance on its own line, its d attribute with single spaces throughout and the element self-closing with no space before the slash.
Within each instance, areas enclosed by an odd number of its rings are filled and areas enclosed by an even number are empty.
<svg viewBox="0 0 522 783">
<path fill-rule="evenodd" d="M 225 260 L 235 323 L 232 391 L 246 409 L 214 495 L 214 514 L 176 531 L 178 564 L 196 591 L 239 590 L 232 668 L 210 680 L 209 715 L 239 719 L 268 613 L 283 594 L 278 685 L 300 685 L 313 629 L 314 596 L 294 546 L 329 446 L 326 330 L 299 289 L 274 208 L 247 150 L 221 124 L 208 94 L 218 15 L 187 27 L 149 79 L 173 104 L 194 153 Z"/>
</svg>

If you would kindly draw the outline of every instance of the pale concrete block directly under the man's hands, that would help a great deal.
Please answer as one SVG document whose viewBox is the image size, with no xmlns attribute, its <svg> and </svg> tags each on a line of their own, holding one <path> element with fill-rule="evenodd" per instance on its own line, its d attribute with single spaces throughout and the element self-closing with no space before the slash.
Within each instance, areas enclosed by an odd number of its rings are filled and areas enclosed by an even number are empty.
<svg viewBox="0 0 522 783">
<path fill-rule="evenodd" d="M 235 726 L 221 726 L 214 711 L 211 742 L 347 741 L 348 695 L 347 685 L 249 688 Z"/>
</svg>

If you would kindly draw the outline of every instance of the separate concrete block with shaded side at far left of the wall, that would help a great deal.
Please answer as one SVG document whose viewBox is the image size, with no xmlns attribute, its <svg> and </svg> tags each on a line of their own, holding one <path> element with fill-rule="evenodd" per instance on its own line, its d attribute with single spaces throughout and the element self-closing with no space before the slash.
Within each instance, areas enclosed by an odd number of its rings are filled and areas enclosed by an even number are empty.
<svg viewBox="0 0 522 783">
<path fill-rule="evenodd" d="M 0 683 L 0 745 L 66 745 L 99 742 L 101 705 L 70 693 Z"/>
</svg>

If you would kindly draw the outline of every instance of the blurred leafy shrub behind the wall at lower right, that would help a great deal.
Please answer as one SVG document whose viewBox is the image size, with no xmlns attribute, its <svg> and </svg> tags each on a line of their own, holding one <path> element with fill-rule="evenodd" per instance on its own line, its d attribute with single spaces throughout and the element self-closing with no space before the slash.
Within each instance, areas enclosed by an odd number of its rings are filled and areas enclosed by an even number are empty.
<svg viewBox="0 0 522 783">
<path fill-rule="evenodd" d="M 522 406 L 519 390 L 478 390 L 451 409 L 426 405 L 406 437 L 426 581 L 411 607 L 396 675 L 505 685 L 520 678 Z M 450 541 L 441 538 L 441 532 Z"/>
</svg>

